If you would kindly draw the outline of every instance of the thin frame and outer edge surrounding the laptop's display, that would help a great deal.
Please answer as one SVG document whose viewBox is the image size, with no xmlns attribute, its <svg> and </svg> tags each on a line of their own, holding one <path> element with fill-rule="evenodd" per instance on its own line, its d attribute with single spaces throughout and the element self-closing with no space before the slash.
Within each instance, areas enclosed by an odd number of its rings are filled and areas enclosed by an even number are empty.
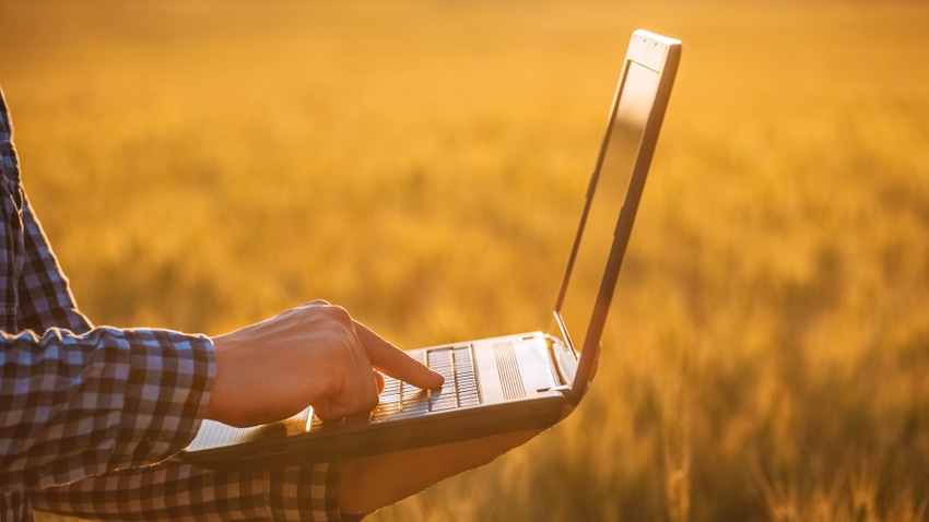
<svg viewBox="0 0 929 522">
<path fill-rule="evenodd" d="M 619 280 L 620 268 L 622 266 L 623 257 L 625 254 L 626 247 L 628 246 L 628 239 L 632 234 L 632 227 L 638 210 L 638 203 L 642 199 L 645 180 L 651 165 L 658 133 L 665 118 L 665 111 L 671 95 L 671 86 L 677 73 L 678 62 L 680 61 L 680 54 L 681 43 L 679 40 L 656 35 L 643 29 L 634 32 L 626 51 L 626 58 L 623 63 L 620 80 L 613 95 L 613 103 L 607 121 L 607 130 L 600 146 L 596 168 L 590 177 L 590 183 L 587 188 L 580 223 L 578 225 L 577 234 L 575 235 L 572 252 L 568 258 L 565 274 L 562 280 L 562 286 L 558 290 L 558 296 L 554 307 L 554 318 L 558 329 L 561 330 L 563 341 L 571 347 L 572 351 L 580 354 L 577 369 L 568 392 L 571 401 L 575 404 L 579 402 L 587 392 L 590 381 L 592 380 L 595 361 L 598 359 L 600 352 L 600 336 L 607 322 L 607 315 L 609 312 L 610 302 L 613 299 L 616 281 Z M 578 349 L 571 336 L 571 332 L 567 330 L 567 325 L 565 324 L 562 316 L 562 307 L 564 305 L 568 283 L 571 281 L 571 274 L 574 269 L 574 262 L 581 242 L 581 236 L 587 222 L 592 197 L 597 188 L 597 182 L 600 178 L 600 170 L 603 166 L 603 161 L 610 145 L 610 137 L 616 118 L 616 111 L 623 93 L 625 92 L 628 71 L 633 63 L 655 72 L 658 75 L 658 88 L 655 94 L 651 110 L 649 111 L 645 122 L 642 141 L 639 142 L 638 152 L 636 154 L 632 176 L 630 178 L 628 189 L 618 218 L 613 244 L 610 249 L 603 276 L 600 281 L 600 288 L 597 293 L 590 322 L 588 323 L 587 334 L 580 345 L 580 349 Z"/>
</svg>

